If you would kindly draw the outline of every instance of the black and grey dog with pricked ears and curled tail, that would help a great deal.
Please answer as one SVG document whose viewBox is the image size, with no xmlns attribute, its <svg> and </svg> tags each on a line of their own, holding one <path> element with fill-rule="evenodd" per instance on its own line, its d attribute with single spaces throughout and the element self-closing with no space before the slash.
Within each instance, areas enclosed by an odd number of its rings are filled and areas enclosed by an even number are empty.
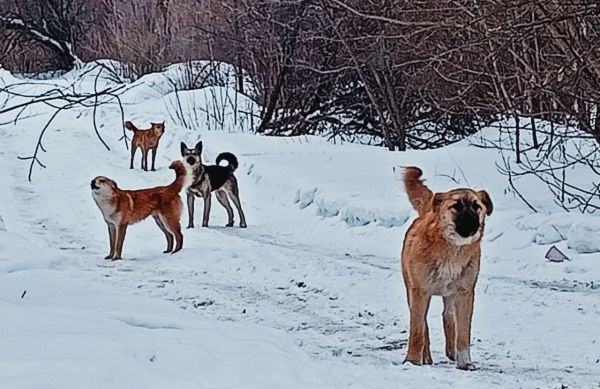
<svg viewBox="0 0 600 389">
<path fill-rule="evenodd" d="M 228 198 L 238 210 L 240 215 L 240 227 L 246 228 L 246 217 L 242 211 L 240 203 L 240 192 L 237 179 L 233 172 L 238 167 L 238 160 L 231 153 L 221 153 L 217 156 L 216 165 L 202 164 L 202 142 L 198 142 L 196 147 L 188 149 L 185 143 L 181 142 L 181 156 L 183 160 L 192 168 L 193 182 L 187 188 L 188 205 L 188 226 L 194 228 L 194 196 L 204 198 L 204 214 L 202 216 L 202 227 L 208 227 L 208 217 L 210 215 L 211 192 L 215 192 L 217 200 L 227 210 L 227 226 L 233 227 L 233 209 L 229 205 Z M 219 166 L 221 161 L 227 161 L 227 166 Z"/>
</svg>

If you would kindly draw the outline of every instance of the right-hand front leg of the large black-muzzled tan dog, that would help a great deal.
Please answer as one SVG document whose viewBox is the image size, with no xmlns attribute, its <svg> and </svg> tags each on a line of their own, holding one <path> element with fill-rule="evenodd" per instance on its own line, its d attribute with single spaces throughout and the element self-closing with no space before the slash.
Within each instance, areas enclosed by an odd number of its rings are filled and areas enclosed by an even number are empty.
<svg viewBox="0 0 600 389">
<path fill-rule="evenodd" d="M 473 318 L 473 290 L 461 291 L 455 297 L 456 309 L 456 368 L 475 370 L 471 362 L 471 319 Z"/>
</svg>

